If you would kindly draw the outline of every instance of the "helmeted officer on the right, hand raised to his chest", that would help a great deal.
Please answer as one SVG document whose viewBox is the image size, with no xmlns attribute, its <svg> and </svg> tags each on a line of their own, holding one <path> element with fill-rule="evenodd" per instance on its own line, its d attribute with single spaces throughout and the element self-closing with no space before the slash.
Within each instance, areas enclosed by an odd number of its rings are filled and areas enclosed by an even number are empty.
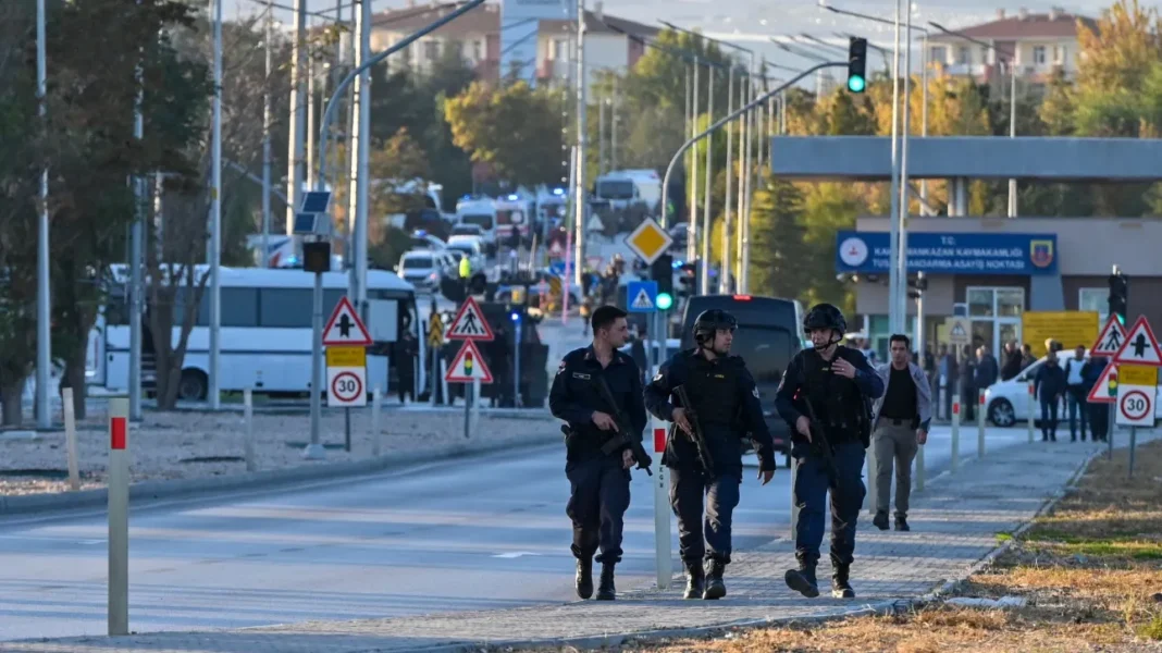
<svg viewBox="0 0 1162 653">
<path fill-rule="evenodd" d="M 855 551 L 855 521 L 863 505 L 863 455 L 870 443 L 871 400 L 883 395 L 883 380 L 859 350 L 839 344 L 847 330 L 844 314 L 832 304 L 817 304 L 803 318 L 803 331 L 813 349 L 795 354 L 775 394 L 775 408 L 794 433 L 792 495 L 799 508 L 795 558 L 787 586 L 803 596 L 819 596 L 815 568 L 823 543 L 824 511 L 831 489 L 831 594 L 854 598 L 848 581 Z M 813 412 L 815 418 L 810 417 Z M 815 421 L 817 419 L 817 421 Z M 822 442 L 812 442 L 811 429 L 822 430 L 831 447 L 835 478 L 820 455 Z M 822 440 L 822 438 L 819 438 Z"/>
</svg>

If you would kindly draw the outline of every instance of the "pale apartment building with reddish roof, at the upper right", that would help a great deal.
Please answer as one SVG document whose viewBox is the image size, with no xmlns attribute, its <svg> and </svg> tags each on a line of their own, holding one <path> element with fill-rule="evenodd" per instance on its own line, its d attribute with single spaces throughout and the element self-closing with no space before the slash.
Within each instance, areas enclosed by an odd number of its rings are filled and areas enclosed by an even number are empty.
<svg viewBox="0 0 1162 653">
<path fill-rule="evenodd" d="M 1096 21 L 1060 7 L 1043 14 L 998 9 L 995 21 L 957 29 L 960 36 L 932 33 L 928 57 L 951 74 L 970 74 L 981 81 L 1007 78 L 1012 62 L 1020 79 L 1042 85 L 1057 70 L 1070 78 L 1077 72 L 1082 26 L 1093 29 Z"/>
</svg>

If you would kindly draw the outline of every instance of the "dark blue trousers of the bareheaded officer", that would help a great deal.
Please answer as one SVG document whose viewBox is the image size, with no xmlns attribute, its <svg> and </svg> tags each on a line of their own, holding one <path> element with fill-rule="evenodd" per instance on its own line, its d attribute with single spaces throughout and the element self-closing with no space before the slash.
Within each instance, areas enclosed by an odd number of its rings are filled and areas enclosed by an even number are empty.
<svg viewBox="0 0 1162 653">
<path fill-rule="evenodd" d="M 573 555 L 598 562 L 622 561 L 622 531 L 630 507 L 630 471 L 621 455 L 571 461 L 565 466 L 572 494 L 565 514 L 573 519 Z"/>
</svg>

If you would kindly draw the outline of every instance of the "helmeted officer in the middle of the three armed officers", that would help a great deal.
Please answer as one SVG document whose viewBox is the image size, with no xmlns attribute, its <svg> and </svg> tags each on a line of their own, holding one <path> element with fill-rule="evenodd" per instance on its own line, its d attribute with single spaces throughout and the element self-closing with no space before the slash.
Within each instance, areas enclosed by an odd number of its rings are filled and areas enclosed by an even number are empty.
<svg viewBox="0 0 1162 653">
<path fill-rule="evenodd" d="M 674 354 L 645 389 L 646 408 L 675 425 L 670 428 L 662 462 L 672 469 L 669 502 L 677 516 L 687 574 L 686 598 L 726 596 L 723 572 L 730 564 L 731 516 L 743 482 L 744 436 L 749 433 L 754 442 L 762 485 L 770 482 L 775 473 L 774 443 L 762 418 L 754 378 L 741 357 L 730 356 L 737 326 L 734 317 L 724 310 L 703 311 L 694 322 L 697 346 Z M 679 404 L 674 388 L 682 385 L 693 407 Z M 698 417 L 713 469 L 702 468 L 690 437 L 688 408 Z"/>
</svg>

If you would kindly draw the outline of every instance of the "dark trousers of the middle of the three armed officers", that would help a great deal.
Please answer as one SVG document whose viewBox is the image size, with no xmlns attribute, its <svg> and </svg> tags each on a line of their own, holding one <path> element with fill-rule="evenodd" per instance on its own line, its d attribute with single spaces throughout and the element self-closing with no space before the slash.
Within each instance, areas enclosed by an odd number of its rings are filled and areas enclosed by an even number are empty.
<svg viewBox="0 0 1162 653">
<path fill-rule="evenodd" d="M 705 557 L 723 564 L 730 562 L 731 517 L 738 505 L 738 486 L 741 480 L 736 474 L 719 474 L 710 480 L 701 471 L 670 469 L 669 505 L 677 516 L 677 541 L 682 560 L 696 562 Z M 706 545 L 710 545 L 709 553 Z"/>
</svg>

